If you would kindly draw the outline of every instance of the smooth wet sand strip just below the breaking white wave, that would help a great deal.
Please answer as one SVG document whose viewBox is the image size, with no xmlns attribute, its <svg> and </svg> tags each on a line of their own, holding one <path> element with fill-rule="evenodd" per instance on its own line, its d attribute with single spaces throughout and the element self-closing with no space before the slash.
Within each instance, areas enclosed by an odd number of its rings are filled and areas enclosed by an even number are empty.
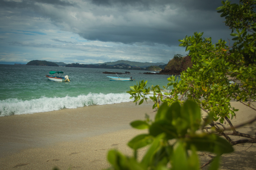
<svg viewBox="0 0 256 170">
<path fill-rule="evenodd" d="M 128 129 L 131 128 L 129 123 L 134 120 L 133 117 L 144 119 L 145 113 L 154 114 L 153 111 L 150 102 L 143 106 L 125 102 L 0 117 L 0 157 L 5 155 L 3 150 L 12 153 L 28 147 L 79 140 Z M 10 145 L 10 141 L 14 150 L 12 147 L 3 147 L 3 144 Z"/>
</svg>

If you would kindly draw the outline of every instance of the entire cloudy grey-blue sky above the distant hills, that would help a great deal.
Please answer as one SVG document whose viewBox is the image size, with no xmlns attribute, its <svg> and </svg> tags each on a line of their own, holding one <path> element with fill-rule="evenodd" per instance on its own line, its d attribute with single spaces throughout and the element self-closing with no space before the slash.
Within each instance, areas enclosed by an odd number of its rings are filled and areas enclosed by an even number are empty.
<svg viewBox="0 0 256 170">
<path fill-rule="evenodd" d="M 178 41 L 186 35 L 231 39 L 219 6 L 220 0 L 0 0 L 0 63 L 168 63 L 188 54 Z"/>
</svg>

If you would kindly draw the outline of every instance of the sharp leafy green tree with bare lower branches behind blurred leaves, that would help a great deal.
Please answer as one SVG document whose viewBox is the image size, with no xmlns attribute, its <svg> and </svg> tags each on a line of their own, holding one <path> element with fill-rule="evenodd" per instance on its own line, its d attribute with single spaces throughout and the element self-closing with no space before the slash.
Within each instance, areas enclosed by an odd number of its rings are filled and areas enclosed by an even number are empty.
<svg viewBox="0 0 256 170">
<path fill-rule="evenodd" d="M 226 25 L 232 28 L 233 46 L 227 46 L 223 40 L 212 44 L 211 38 L 202 38 L 203 33 L 195 32 L 193 36 L 186 36 L 179 40 L 180 46 L 189 51 L 193 66 L 181 73 L 180 80 L 176 76 L 168 78 L 167 85 L 173 87 L 171 91 L 155 90 L 156 86 L 147 89 L 153 94 L 150 96 L 155 103 L 153 108 L 159 106 L 160 102 L 170 105 L 175 101 L 182 103 L 190 99 L 206 113 L 212 112 L 214 122 L 209 124 L 211 129 L 215 129 L 232 145 L 256 143 L 256 136 L 239 133 L 231 122 L 237 111 L 231 106 L 231 101 L 239 101 L 255 110 L 256 100 L 256 13 L 253 11 L 256 1 L 240 2 L 242 4 L 238 5 L 222 1 L 223 6 L 217 8 L 225 17 Z M 234 30 L 237 33 L 233 33 Z M 137 91 L 131 89 L 128 92 L 135 102 L 139 100 L 138 94 L 144 93 L 144 87 L 139 84 Z M 225 122 L 232 133 L 225 132 Z M 234 141 L 230 136 L 244 139 Z"/>
</svg>

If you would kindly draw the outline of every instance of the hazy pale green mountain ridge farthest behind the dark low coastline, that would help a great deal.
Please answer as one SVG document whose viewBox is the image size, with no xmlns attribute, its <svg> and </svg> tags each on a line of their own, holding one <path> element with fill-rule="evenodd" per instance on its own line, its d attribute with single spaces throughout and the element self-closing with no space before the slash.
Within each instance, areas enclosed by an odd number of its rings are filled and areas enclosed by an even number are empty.
<svg viewBox="0 0 256 170">
<path fill-rule="evenodd" d="M 101 64 L 107 64 L 107 65 L 117 65 L 117 64 L 128 64 L 133 67 L 149 67 L 152 65 L 165 65 L 163 62 L 157 62 L 157 63 L 151 63 L 151 62 L 136 62 L 136 61 L 128 61 L 128 60 L 118 60 L 115 62 L 104 62 L 104 63 L 98 63 L 95 65 L 101 65 Z"/>
</svg>

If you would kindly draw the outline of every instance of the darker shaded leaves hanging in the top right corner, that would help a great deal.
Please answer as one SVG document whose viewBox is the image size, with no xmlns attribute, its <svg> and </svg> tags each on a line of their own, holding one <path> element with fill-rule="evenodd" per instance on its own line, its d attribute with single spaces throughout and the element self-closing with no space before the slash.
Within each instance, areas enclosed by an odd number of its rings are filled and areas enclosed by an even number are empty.
<svg viewBox="0 0 256 170">
<path fill-rule="evenodd" d="M 240 53 L 238 57 L 243 60 L 245 65 L 255 65 L 256 1 L 240 0 L 240 2 L 242 4 L 238 5 L 222 1 L 223 6 L 217 8 L 217 10 L 222 13 L 221 17 L 225 17 L 225 25 L 232 29 L 232 34 L 230 35 L 234 37 L 232 40 L 235 42 L 230 53 L 237 55 Z M 234 30 L 236 33 L 233 33 Z"/>
</svg>

